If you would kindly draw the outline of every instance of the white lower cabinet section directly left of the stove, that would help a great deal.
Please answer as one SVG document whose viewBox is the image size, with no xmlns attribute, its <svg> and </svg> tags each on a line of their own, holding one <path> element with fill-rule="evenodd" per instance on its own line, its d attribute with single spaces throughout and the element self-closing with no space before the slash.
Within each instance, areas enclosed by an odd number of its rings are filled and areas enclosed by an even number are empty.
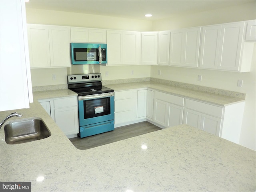
<svg viewBox="0 0 256 192">
<path fill-rule="evenodd" d="M 54 98 L 39 100 L 40 104 L 69 138 L 78 134 L 78 104 L 77 97 Z M 74 135 L 76 136 L 76 135 Z"/>
</svg>

